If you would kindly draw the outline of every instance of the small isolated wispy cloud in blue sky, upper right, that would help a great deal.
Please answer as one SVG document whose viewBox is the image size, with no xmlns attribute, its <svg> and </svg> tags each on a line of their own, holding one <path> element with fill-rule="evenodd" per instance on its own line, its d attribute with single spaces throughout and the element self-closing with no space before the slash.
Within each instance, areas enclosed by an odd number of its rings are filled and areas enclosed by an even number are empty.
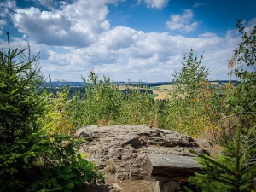
<svg viewBox="0 0 256 192">
<path fill-rule="evenodd" d="M 191 32 L 198 26 L 197 22 L 190 23 L 193 16 L 194 14 L 191 9 L 185 9 L 183 15 L 171 15 L 170 21 L 166 21 L 166 25 L 171 31 Z"/>
</svg>

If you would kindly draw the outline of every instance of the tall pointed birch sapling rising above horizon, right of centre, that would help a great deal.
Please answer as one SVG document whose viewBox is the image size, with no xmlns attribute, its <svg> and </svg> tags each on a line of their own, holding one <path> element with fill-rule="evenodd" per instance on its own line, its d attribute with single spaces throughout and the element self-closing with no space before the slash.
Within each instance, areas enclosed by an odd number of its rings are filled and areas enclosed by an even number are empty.
<svg viewBox="0 0 256 192">
<path fill-rule="evenodd" d="M 165 126 L 194 137 L 202 131 L 215 131 L 221 108 L 217 91 L 207 82 L 208 69 L 201 66 L 202 59 L 194 58 L 193 49 L 189 56 L 183 54 L 183 68 L 173 74 L 168 108 L 160 113 L 160 122 Z"/>
</svg>

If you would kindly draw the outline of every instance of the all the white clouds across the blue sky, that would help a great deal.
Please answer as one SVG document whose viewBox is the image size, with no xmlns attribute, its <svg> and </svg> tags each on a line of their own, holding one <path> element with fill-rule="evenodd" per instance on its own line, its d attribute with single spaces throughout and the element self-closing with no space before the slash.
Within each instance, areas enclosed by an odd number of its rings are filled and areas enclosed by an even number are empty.
<svg viewBox="0 0 256 192">
<path fill-rule="evenodd" d="M 240 40 L 237 30 L 228 31 L 225 37 L 205 32 L 186 38 L 125 26 L 111 28 L 106 19 L 106 4 L 119 2 L 78 0 L 72 4 L 62 2 L 61 9 L 51 11 L 16 9 L 13 20 L 23 38 L 11 38 L 11 47 L 26 48 L 24 38 L 28 38 L 33 52 L 41 52 L 44 74 L 47 77 L 51 74 L 52 79 L 79 81 L 80 74 L 86 76 L 93 67 L 97 74 L 113 80 L 171 81 L 174 70 L 182 67 L 182 53 L 188 55 L 190 49 L 195 49 L 195 55 L 204 55 L 202 65 L 210 68 L 212 79 L 226 79 L 227 60 Z M 155 3 L 155 8 L 160 8 L 168 1 L 148 3 L 150 7 Z M 170 30 L 189 32 L 198 25 L 193 22 L 193 16 L 186 9 L 182 15 L 172 15 L 166 24 Z M 245 22 L 251 25 L 247 29 L 255 26 L 255 22 L 256 19 Z M 0 40 L 2 43 L 6 48 L 6 42 Z"/>
</svg>

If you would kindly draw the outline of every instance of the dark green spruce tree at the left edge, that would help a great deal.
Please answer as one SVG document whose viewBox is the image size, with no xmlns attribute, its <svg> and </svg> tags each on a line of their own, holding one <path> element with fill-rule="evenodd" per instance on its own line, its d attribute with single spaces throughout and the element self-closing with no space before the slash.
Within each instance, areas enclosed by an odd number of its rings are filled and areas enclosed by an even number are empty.
<svg viewBox="0 0 256 192">
<path fill-rule="evenodd" d="M 44 113 L 44 98 L 37 94 L 44 82 L 38 55 L 25 60 L 26 49 L 0 52 L 0 140 L 6 146 L 38 131 L 38 116 Z M 30 49 L 28 49 L 30 51 Z M 20 57 L 20 62 L 15 57 Z"/>
</svg>

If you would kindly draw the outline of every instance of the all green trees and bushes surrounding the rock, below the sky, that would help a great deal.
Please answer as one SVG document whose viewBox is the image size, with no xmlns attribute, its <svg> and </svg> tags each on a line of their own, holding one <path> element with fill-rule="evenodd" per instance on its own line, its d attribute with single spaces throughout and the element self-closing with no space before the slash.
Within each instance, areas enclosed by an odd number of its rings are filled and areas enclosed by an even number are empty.
<svg viewBox="0 0 256 192">
<path fill-rule="evenodd" d="M 241 44 L 229 62 L 239 84 L 209 84 L 209 71 L 201 65 L 203 57 L 195 56 L 191 49 L 189 55 L 183 54 L 182 70 L 173 74 L 172 90 L 163 87 L 169 92 L 164 100 L 154 100 L 141 84 L 135 87 L 128 82 L 121 89 L 109 77 L 100 79 L 93 71 L 82 78 L 81 90 L 71 91 L 67 85 L 47 92 L 42 86 L 38 55 L 26 56 L 25 49 L 9 49 L 7 54 L 2 51 L 0 190 L 79 191 L 84 182 L 103 181 L 102 173 L 86 160 L 86 154 L 79 154 L 79 145 L 85 141 L 73 134 L 84 125 L 129 124 L 218 140 L 224 154 L 198 154 L 204 169 L 191 177 L 191 183 L 203 191 L 252 191 L 256 29 L 248 34 L 240 23 Z"/>
</svg>

